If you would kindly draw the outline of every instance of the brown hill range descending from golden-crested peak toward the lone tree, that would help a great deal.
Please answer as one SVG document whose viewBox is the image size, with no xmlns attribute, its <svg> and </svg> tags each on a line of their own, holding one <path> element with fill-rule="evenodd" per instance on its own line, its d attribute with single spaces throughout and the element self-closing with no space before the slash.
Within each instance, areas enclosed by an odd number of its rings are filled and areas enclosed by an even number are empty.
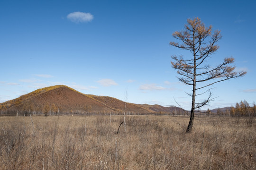
<svg viewBox="0 0 256 170">
<path fill-rule="evenodd" d="M 0 103 L 0 110 L 44 112 L 93 112 L 120 114 L 125 108 L 125 102 L 109 97 L 83 94 L 66 85 L 55 85 L 37 89 L 16 99 Z M 177 107 L 160 105 L 126 103 L 127 114 L 154 114 L 156 112 L 182 111 Z"/>
</svg>

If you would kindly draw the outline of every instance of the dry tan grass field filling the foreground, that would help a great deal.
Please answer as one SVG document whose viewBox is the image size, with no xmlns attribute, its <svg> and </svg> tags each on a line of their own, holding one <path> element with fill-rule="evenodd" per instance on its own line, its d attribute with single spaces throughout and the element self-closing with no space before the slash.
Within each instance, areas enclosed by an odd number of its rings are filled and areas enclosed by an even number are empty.
<svg viewBox="0 0 256 170">
<path fill-rule="evenodd" d="M 111 119 L 110 119 L 111 118 Z M 0 170 L 255 170 L 256 119 L 0 117 Z"/>
</svg>

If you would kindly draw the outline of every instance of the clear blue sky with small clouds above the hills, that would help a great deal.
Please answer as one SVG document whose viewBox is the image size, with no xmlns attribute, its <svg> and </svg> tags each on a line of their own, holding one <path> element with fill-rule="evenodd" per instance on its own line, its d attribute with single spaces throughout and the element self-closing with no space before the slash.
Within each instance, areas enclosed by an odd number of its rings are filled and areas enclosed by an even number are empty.
<svg viewBox="0 0 256 170">
<path fill-rule="evenodd" d="M 169 45 L 187 18 L 221 30 L 209 64 L 233 56 L 247 75 L 214 85 L 205 109 L 256 101 L 255 0 L 1 0 L 0 102 L 50 85 L 127 102 L 191 108 Z M 204 108 L 203 108 L 204 109 Z"/>
</svg>

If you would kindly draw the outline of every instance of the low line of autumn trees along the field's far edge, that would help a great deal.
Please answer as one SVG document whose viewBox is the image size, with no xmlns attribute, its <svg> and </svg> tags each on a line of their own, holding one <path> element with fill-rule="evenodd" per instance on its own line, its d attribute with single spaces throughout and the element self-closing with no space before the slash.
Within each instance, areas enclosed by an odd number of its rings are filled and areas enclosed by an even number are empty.
<svg viewBox="0 0 256 170">
<path fill-rule="evenodd" d="M 42 107 L 37 106 L 33 102 L 24 102 L 21 108 L 11 109 L 5 105 L 0 106 L 0 115 L 1 116 L 32 116 L 32 115 L 45 115 L 45 116 L 54 116 L 54 115 L 121 115 L 122 110 L 118 111 L 95 111 L 92 110 L 91 105 L 85 105 L 80 109 L 66 109 L 61 106 L 57 106 L 55 103 L 46 103 Z M 145 113 L 139 113 L 135 111 L 127 111 L 127 115 L 144 115 Z M 150 113 L 152 114 L 152 113 Z M 249 103 L 244 100 L 237 102 L 235 107 L 231 107 L 223 110 L 218 108 L 217 111 L 212 111 L 210 109 L 206 111 L 196 110 L 195 114 L 197 116 L 255 116 L 256 117 L 256 103 L 253 103 L 253 106 L 250 106 Z M 189 116 L 189 111 L 187 110 L 173 110 L 173 111 L 155 111 L 154 115 L 162 116 Z"/>
</svg>

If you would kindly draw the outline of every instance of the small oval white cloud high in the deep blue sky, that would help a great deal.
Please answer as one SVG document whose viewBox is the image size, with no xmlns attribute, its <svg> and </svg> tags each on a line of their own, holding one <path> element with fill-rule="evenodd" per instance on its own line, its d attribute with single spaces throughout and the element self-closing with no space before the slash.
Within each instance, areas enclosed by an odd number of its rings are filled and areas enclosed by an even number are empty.
<svg viewBox="0 0 256 170">
<path fill-rule="evenodd" d="M 93 15 L 85 12 L 72 12 L 67 15 L 67 18 L 74 23 L 89 22 L 93 19 Z"/>
</svg>

